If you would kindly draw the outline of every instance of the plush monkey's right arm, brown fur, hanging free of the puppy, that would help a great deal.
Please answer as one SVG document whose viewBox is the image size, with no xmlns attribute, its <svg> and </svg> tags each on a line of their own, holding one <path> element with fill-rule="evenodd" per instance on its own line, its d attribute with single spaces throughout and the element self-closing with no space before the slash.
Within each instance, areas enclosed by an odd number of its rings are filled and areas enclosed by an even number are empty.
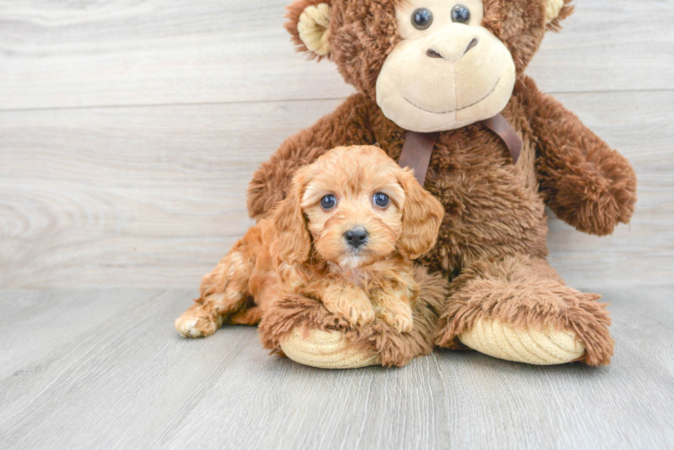
<svg viewBox="0 0 674 450">
<path fill-rule="evenodd" d="M 529 78 L 524 80 L 545 203 L 569 225 L 604 236 L 628 223 L 637 181 L 629 161 Z"/>
</svg>

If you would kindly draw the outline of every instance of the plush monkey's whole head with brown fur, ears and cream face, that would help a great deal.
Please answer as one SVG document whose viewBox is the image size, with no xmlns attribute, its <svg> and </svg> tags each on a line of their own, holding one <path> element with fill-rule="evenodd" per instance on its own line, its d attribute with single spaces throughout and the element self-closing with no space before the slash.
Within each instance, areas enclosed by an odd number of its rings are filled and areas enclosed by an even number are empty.
<svg viewBox="0 0 674 450">
<path fill-rule="evenodd" d="M 329 58 L 344 79 L 411 131 L 493 117 L 510 100 L 546 30 L 572 0 L 294 0 L 298 50 Z"/>
</svg>

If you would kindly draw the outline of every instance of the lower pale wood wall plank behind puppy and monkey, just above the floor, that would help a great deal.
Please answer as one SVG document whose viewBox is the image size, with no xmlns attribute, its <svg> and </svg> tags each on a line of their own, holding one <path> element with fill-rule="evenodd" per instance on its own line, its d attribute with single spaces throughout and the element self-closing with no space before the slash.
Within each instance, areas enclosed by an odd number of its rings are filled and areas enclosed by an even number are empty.
<svg viewBox="0 0 674 450">
<path fill-rule="evenodd" d="M 570 284 L 674 280 L 674 91 L 557 95 L 630 159 L 610 237 L 552 219 Z M 243 236 L 254 168 L 339 100 L 0 113 L 0 286 L 195 287 Z"/>
</svg>

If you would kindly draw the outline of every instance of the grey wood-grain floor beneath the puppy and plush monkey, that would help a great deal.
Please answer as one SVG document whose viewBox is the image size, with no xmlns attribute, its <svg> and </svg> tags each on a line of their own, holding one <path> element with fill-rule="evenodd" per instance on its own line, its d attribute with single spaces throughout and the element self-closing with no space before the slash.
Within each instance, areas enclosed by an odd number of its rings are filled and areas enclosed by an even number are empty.
<svg viewBox="0 0 674 450">
<path fill-rule="evenodd" d="M 193 291 L 0 291 L 13 312 L 0 352 L 22 355 L 0 354 L 0 448 L 671 448 L 674 291 L 600 292 L 617 341 L 606 368 L 444 350 L 330 371 L 270 357 L 250 327 L 180 338 Z M 83 308 L 101 313 L 76 319 Z"/>
</svg>

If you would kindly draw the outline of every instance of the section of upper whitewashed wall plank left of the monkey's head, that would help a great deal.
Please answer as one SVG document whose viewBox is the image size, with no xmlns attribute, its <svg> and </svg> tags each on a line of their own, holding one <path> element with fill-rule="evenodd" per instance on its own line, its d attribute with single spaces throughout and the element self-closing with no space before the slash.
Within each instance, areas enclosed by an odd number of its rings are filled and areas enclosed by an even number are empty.
<svg viewBox="0 0 674 450">
<path fill-rule="evenodd" d="M 285 0 L 0 2 L 0 109 L 337 98 Z M 292 80 L 292 82 L 289 82 Z"/>
</svg>

